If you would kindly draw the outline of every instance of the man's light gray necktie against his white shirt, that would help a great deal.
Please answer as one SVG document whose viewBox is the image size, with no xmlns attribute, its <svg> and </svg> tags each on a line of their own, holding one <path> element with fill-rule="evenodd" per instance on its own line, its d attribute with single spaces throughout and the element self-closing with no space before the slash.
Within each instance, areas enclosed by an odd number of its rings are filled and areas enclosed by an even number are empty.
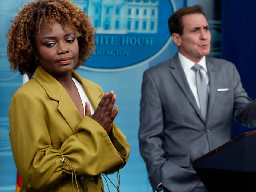
<svg viewBox="0 0 256 192">
<path fill-rule="evenodd" d="M 202 66 L 195 64 L 191 69 L 196 72 L 196 84 L 197 84 L 197 94 L 200 103 L 201 114 L 204 120 L 206 120 L 207 115 L 207 105 L 208 105 L 208 87 L 206 79 L 203 73 L 200 71 Z"/>
</svg>

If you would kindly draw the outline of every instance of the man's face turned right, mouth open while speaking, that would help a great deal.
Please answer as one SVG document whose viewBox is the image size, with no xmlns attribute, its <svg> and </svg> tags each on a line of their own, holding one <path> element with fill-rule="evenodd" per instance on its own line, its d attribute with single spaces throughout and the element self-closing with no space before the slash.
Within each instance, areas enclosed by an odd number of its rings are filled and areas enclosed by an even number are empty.
<svg viewBox="0 0 256 192">
<path fill-rule="evenodd" d="M 211 34 L 208 22 L 201 13 L 184 15 L 183 17 L 183 35 L 179 36 L 179 41 L 174 43 L 182 55 L 199 62 L 203 56 L 210 53 Z"/>
</svg>

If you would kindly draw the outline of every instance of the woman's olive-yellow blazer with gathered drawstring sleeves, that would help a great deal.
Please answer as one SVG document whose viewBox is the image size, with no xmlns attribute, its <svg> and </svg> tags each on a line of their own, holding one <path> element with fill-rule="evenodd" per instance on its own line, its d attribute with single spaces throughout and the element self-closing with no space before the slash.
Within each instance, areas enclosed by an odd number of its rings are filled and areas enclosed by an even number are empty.
<svg viewBox="0 0 256 192">
<path fill-rule="evenodd" d="M 72 75 L 96 109 L 104 95 L 100 86 L 75 71 Z M 20 192 L 78 191 L 75 181 L 72 187 L 71 167 L 79 191 L 101 192 L 100 174 L 112 174 L 128 160 L 130 145 L 118 127 L 113 123 L 110 139 L 99 123 L 81 117 L 63 86 L 40 66 L 34 78 L 14 93 L 9 121 L 13 157 L 22 179 Z M 63 157 L 71 165 L 62 162 Z"/>
</svg>

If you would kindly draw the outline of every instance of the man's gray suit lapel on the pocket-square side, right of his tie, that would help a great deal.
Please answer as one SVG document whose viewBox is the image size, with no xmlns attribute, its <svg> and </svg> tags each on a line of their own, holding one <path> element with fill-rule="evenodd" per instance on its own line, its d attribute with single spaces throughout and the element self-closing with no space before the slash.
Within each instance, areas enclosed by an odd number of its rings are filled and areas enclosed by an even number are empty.
<svg viewBox="0 0 256 192">
<path fill-rule="evenodd" d="M 216 73 L 214 64 L 210 63 L 207 57 L 206 57 L 206 66 L 207 66 L 209 84 L 210 84 L 210 95 L 209 95 L 208 109 L 207 109 L 207 118 L 208 118 L 213 108 L 213 104 L 216 96 L 217 73 Z"/>
</svg>

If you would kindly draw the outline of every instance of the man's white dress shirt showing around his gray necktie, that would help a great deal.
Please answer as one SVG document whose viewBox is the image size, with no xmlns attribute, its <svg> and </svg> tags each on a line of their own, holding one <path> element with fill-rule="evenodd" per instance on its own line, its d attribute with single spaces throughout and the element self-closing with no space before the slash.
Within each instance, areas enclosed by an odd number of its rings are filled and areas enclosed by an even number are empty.
<svg viewBox="0 0 256 192">
<path fill-rule="evenodd" d="M 178 52 L 178 56 L 181 61 L 181 66 L 182 66 L 182 68 L 185 72 L 185 75 L 187 77 L 188 85 L 190 86 L 190 89 L 196 99 L 197 106 L 200 109 L 200 104 L 199 104 L 199 99 L 198 99 L 198 94 L 197 94 L 196 73 L 193 69 L 191 69 L 195 63 L 193 61 L 191 61 L 190 59 L 187 59 L 187 57 L 183 56 L 180 52 Z M 205 56 L 203 56 L 203 58 L 197 64 L 202 66 L 200 71 L 201 71 L 201 73 L 203 73 L 204 77 L 206 78 L 206 83 L 208 86 L 208 93 L 209 93 L 210 92 L 209 77 L 208 77 L 207 68 L 206 68 Z"/>
</svg>

